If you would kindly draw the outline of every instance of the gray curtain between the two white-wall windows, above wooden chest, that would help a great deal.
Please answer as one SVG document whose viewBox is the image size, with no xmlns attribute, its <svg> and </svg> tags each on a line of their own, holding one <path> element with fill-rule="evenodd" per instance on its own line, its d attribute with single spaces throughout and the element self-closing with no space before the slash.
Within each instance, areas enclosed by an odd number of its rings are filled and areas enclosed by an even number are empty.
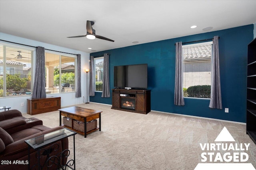
<svg viewBox="0 0 256 170">
<path fill-rule="evenodd" d="M 46 98 L 44 47 L 36 47 L 36 71 L 32 99 Z"/>
</svg>

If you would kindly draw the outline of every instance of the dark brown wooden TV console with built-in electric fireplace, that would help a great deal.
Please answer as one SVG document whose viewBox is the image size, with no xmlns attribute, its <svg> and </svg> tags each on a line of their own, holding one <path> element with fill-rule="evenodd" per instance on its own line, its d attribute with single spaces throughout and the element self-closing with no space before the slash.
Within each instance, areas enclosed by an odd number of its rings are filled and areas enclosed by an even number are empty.
<svg viewBox="0 0 256 170">
<path fill-rule="evenodd" d="M 147 114 L 151 111 L 150 90 L 112 89 L 111 109 Z"/>
</svg>

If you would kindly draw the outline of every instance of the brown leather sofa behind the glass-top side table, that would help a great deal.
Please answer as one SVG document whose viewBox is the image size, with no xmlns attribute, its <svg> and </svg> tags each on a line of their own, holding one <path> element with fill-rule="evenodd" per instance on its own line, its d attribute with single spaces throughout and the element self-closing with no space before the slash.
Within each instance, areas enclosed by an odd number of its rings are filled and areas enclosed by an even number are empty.
<svg viewBox="0 0 256 170">
<path fill-rule="evenodd" d="M 60 129 L 63 129 L 63 127 L 46 127 L 42 125 L 41 120 L 34 117 L 27 119 L 18 110 L 0 112 L 0 169 L 27 170 L 29 161 L 28 145 L 24 141 Z M 43 169 L 56 170 L 58 159 L 54 160 L 54 163 L 49 162 L 48 164 L 44 164 L 45 160 L 49 156 L 58 155 L 65 149 L 68 149 L 68 138 L 42 149 L 42 152 L 40 152 L 40 166 Z M 67 158 L 60 160 L 61 164 L 65 164 Z M 29 169 L 38 169 L 37 150 L 30 149 Z"/>
</svg>

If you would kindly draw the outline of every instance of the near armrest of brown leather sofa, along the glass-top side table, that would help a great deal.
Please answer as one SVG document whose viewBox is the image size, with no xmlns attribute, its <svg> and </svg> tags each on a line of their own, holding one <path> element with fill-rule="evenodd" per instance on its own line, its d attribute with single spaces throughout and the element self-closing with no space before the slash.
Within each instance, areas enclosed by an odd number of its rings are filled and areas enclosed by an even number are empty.
<svg viewBox="0 0 256 170">
<path fill-rule="evenodd" d="M 14 143 L 11 143 L 9 145 L 7 145 L 5 147 L 5 150 L 3 151 L 3 156 L 7 156 L 7 155 L 12 155 L 12 154 L 16 154 L 16 153 L 19 153 L 19 152 L 22 152 L 24 150 L 27 150 L 28 149 L 28 144 L 26 144 L 24 141 L 27 140 L 27 139 L 31 139 L 31 138 L 34 138 L 34 137 L 38 137 L 40 135 L 45 135 L 46 133 L 50 133 L 50 132 L 53 132 L 53 131 L 57 131 L 57 130 L 60 130 L 60 129 L 63 129 L 64 127 L 61 127 L 61 126 L 58 126 L 58 127 L 54 127 L 52 129 L 48 129 L 46 131 L 42 131 L 40 133 L 36 133 L 34 135 L 31 135 L 29 137 L 26 137 L 26 138 L 23 138 L 23 139 L 20 139 L 19 141 L 16 141 Z"/>
</svg>

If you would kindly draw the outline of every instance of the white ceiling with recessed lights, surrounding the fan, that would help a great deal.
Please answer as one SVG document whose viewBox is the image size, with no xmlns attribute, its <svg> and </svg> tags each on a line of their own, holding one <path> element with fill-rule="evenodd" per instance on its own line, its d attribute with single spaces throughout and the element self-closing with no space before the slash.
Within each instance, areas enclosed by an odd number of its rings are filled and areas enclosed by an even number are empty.
<svg viewBox="0 0 256 170">
<path fill-rule="evenodd" d="M 66 38 L 86 35 L 86 20 L 115 42 Z M 256 0 L 0 0 L 0 32 L 87 53 L 253 23 Z"/>
</svg>

